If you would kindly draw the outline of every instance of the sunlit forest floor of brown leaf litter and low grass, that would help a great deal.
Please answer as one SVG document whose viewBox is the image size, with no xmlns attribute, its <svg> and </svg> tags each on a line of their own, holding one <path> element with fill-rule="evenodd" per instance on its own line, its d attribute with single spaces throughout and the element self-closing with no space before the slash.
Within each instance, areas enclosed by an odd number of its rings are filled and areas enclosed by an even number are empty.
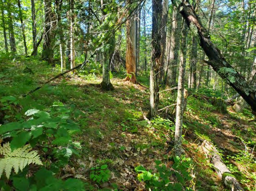
<svg viewBox="0 0 256 191">
<path fill-rule="evenodd" d="M 33 73 L 25 73 L 25 67 Z M 58 177 L 80 178 L 89 182 L 91 190 L 112 189 L 116 185 L 120 190 L 143 190 L 145 185 L 138 181 L 135 167 L 143 165 L 155 172 L 155 160 L 172 165 L 164 156 L 172 155 L 174 124 L 165 110 L 151 120 L 151 124 L 144 120 L 142 112 L 146 115 L 149 109 L 147 88 L 112 78 L 114 91 L 102 91 L 98 77 L 69 73 L 29 96 L 21 96 L 59 72 L 59 69 L 29 58 L 6 58 L 0 64 L 0 97 L 17 98 L 0 115 L 1 123 L 16 121 L 28 109 L 47 110 L 55 101 L 82 111 L 83 114 L 73 117 L 81 130 L 73 135 L 73 140 L 80 142 L 82 148 L 79 156 L 73 156 L 60 170 Z M 147 77 L 138 79 L 148 86 Z M 247 109 L 235 113 L 230 106 L 227 113 L 222 114 L 201 95 L 211 97 L 213 93 L 191 90 L 184 114 L 183 158 L 192 160 L 188 169 L 192 180 L 185 184 L 194 190 L 225 189 L 201 150 L 201 143 L 206 139 L 216 145 L 242 186 L 255 190 L 256 149 L 253 151 L 253 147 L 256 128 L 254 122 L 248 123 L 252 114 Z M 173 93 L 160 93 L 160 109 L 174 103 Z M 103 164 L 110 170 L 108 181 L 92 181 L 88 169 Z"/>
</svg>

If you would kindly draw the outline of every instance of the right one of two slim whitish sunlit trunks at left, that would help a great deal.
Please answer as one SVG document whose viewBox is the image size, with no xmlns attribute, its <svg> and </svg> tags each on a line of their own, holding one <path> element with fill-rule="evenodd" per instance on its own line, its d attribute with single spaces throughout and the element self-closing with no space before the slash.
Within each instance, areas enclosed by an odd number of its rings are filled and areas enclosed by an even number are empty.
<svg viewBox="0 0 256 191">
<path fill-rule="evenodd" d="M 70 68 L 75 67 L 74 0 L 70 0 Z"/>
</svg>

